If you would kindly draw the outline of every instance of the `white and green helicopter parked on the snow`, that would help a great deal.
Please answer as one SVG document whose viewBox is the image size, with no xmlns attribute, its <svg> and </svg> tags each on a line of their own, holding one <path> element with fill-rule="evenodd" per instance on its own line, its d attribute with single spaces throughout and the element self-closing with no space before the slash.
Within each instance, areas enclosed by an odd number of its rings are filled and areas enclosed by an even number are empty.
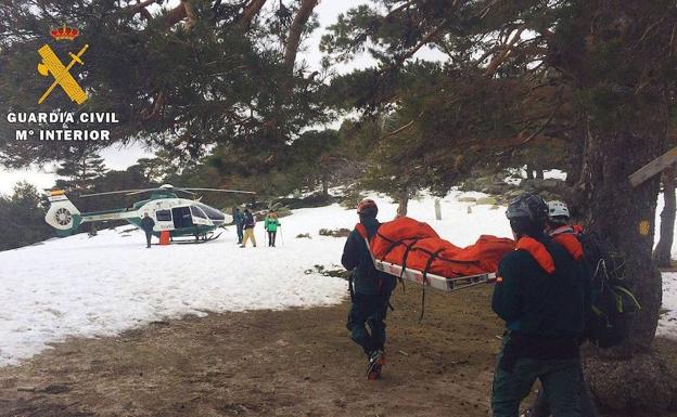
<svg viewBox="0 0 677 417">
<path fill-rule="evenodd" d="M 44 221 L 55 229 L 58 236 L 65 237 L 77 232 L 80 224 L 89 222 L 125 220 L 140 229 L 141 219 L 144 213 L 148 213 L 155 221 L 153 235 L 156 237 L 159 236 L 161 232 L 168 231 L 173 240 L 175 237 L 182 236 L 193 236 L 196 243 L 214 240 L 220 235 L 220 233 L 215 235 L 214 231 L 222 224 L 231 223 L 233 219 L 230 214 L 201 203 L 200 198 L 188 199 L 177 195 L 177 193 L 186 193 L 195 196 L 195 192 L 256 194 L 251 191 L 175 187 L 171 184 L 164 184 L 156 188 L 80 195 L 82 198 L 114 194 L 129 196 L 151 193 L 150 198 L 137 201 L 128 208 L 81 213 L 66 197 L 63 190 L 50 190 L 48 191 L 50 207 L 44 216 Z"/>
</svg>

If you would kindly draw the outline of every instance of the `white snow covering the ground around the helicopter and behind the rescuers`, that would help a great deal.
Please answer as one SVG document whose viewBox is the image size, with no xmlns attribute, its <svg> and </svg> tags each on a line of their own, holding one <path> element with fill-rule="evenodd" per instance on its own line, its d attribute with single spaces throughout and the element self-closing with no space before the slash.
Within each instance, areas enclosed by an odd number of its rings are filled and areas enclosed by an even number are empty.
<svg viewBox="0 0 677 417">
<path fill-rule="evenodd" d="M 452 192 L 442 199 L 414 199 L 409 216 L 426 221 L 448 240 L 464 246 L 481 234 L 511 236 L 503 208 L 459 201 L 481 193 Z M 372 195 L 380 219 L 393 219 L 396 205 Z M 469 210 L 470 207 L 470 210 Z M 469 212 L 470 211 L 470 212 Z M 319 236 L 320 229 L 352 229 L 357 216 L 338 205 L 294 210 L 282 218 L 278 247 L 268 248 L 261 224 L 258 247 L 235 245 L 234 227 L 203 245 L 145 249 L 131 225 L 78 234 L 42 245 L 0 252 L 0 366 L 49 349 L 66 337 L 118 334 L 153 321 L 207 312 L 309 308 L 341 302 L 343 279 L 306 274 L 314 265 L 338 265 L 343 238 Z M 309 233 L 311 238 L 295 238 Z M 677 274 L 665 274 L 660 331 L 677 337 Z M 670 321 L 672 320 L 672 321 Z"/>
</svg>

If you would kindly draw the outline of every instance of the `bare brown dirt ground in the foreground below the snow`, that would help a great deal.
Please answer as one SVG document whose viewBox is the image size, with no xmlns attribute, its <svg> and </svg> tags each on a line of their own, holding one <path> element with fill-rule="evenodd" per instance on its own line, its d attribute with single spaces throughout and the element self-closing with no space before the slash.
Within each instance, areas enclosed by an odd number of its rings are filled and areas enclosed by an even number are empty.
<svg viewBox="0 0 677 417">
<path fill-rule="evenodd" d="M 500 323 L 488 288 L 398 287 L 383 379 L 347 338 L 347 303 L 209 314 L 71 339 L 0 369 L 0 416 L 487 416 Z M 659 341 L 675 361 L 677 343 Z M 615 416 L 614 416 L 615 417 Z"/>
</svg>

